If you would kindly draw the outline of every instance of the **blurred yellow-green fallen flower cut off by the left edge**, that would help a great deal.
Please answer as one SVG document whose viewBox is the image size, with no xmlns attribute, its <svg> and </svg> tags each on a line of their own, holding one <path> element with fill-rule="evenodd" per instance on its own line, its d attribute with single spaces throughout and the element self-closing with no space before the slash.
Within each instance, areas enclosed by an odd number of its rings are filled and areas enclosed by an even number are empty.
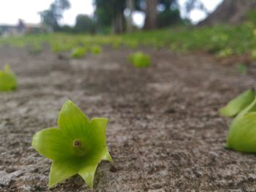
<svg viewBox="0 0 256 192">
<path fill-rule="evenodd" d="M 4 66 L 0 71 L 0 91 L 12 91 L 17 88 L 17 77 L 10 69 L 9 65 Z"/>
</svg>

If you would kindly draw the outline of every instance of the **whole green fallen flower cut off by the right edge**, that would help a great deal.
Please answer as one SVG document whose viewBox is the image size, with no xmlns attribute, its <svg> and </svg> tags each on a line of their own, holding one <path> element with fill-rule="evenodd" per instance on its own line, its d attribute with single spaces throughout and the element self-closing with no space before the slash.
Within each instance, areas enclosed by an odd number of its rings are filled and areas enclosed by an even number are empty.
<svg viewBox="0 0 256 192">
<path fill-rule="evenodd" d="M 249 90 L 231 100 L 222 110 L 225 116 L 233 119 L 225 147 L 246 153 L 256 153 L 256 97 Z"/>
</svg>

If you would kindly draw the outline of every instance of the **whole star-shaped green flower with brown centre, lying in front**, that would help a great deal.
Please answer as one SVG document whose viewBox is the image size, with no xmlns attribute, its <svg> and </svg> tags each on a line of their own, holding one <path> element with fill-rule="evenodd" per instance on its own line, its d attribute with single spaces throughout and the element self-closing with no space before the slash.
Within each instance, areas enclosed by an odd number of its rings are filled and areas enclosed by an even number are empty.
<svg viewBox="0 0 256 192">
<path fill-rule="evenodd" d="M 75 174 L 80 174 L 90 188 L 100 161 L 113 163 L 105 138 L 107 118 L 89 120 L 67 100 L 59 114 L 59 128 L 46 128 L 33 137 L 32 146 L 53 160 L 49 187 Z"/>
</svg>

